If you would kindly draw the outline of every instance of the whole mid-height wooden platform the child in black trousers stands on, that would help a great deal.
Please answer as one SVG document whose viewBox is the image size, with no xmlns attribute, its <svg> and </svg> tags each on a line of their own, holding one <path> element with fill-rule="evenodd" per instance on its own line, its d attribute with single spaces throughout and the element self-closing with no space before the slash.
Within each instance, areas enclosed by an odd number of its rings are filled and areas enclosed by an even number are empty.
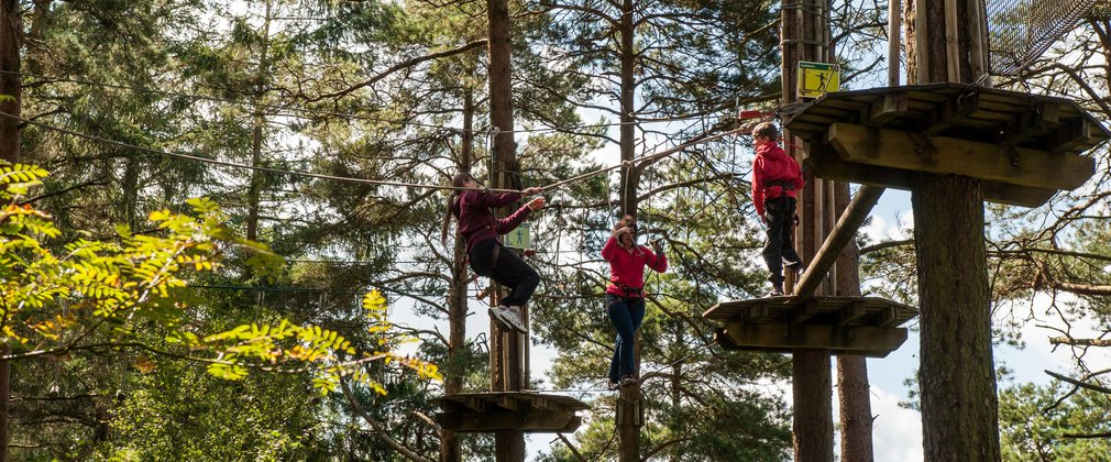
<svg viewBox="0 0 1111 462">
<path fill-rule="evenodd" d="M 828 349 L 833 354 L 882 358 L 907 340 L 899 325 L 918 310 L 873 297 L 771 297 L 718 303 L 702 317 L 721 321 L 727 350 L 790 353 Z"/>
</svg>

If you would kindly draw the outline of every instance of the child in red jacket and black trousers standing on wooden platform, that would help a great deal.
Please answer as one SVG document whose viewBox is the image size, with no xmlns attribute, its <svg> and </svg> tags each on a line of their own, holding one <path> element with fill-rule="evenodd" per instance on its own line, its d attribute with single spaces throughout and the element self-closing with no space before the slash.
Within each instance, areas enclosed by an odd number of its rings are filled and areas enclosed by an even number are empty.
<svg viewBox="0 0 1111 462">
<path fill-rule="evenodd" d="M 792 224 L 799 190 L 805 185 L 799 163 L 779 147 L 779 129 L 763 122 L 752 129 L 757 157 L 752 162 L 752 203 L 768 227 L 763 259 L 768 263 L 772 291 L 783 294 L 783 264 L 792 271 L 802 269 L 802 259 L 794 251 Z"/>
</svg>

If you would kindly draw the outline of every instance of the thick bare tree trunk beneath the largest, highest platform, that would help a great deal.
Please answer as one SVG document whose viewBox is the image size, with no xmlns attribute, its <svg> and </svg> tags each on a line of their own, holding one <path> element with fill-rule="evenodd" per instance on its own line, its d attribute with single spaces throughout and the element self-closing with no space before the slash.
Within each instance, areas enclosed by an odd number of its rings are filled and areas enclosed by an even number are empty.
<svg viewBox="0 0 1111 462">
<path fill-rule="evenodd" d="M 998 461 L 983 194 L 971 178 L 922 174 L 912 201 L 925 460 Z"/>
</svg>

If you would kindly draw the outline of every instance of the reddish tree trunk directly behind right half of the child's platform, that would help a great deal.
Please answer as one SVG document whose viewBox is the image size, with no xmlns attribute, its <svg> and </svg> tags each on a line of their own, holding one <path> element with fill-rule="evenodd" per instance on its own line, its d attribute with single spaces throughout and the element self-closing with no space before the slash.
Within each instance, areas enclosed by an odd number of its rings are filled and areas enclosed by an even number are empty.
<svg viewBox="0 0 1111 462">
<path fill-rule="evenodd" d="M 840 217 L 849 205 L 849 183 L 834 184 L 834 209 Z M 860 253 L 849 241 L 837 261 L 837 295 L 860 297 Z M 838 405 L 841 410 L 841 460 L 871 462 L 872 402 L 864 356 L 842 354 L 837 359 Z"/>
</svg>

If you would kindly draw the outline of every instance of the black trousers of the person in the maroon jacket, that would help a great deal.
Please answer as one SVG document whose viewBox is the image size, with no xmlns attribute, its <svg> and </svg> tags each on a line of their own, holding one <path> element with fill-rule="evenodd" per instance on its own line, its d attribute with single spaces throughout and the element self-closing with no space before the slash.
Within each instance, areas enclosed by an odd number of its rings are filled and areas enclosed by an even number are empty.
<svg viewBox="0 0 1111 462">
<path fill-rule="evenodd" d="M 493 260 L 494 248 L 498 248 L 498 261 Z M 509 288 L 509 297 L 501 300 L 507 307 L 523 307 L 532 298 L 540 285 L 540 274 L 517 252 L 506 249 L 497 239 L 487 239 L 471 248 L 471 269 L 479 275 L 490 278 Z"/>
</svg>

